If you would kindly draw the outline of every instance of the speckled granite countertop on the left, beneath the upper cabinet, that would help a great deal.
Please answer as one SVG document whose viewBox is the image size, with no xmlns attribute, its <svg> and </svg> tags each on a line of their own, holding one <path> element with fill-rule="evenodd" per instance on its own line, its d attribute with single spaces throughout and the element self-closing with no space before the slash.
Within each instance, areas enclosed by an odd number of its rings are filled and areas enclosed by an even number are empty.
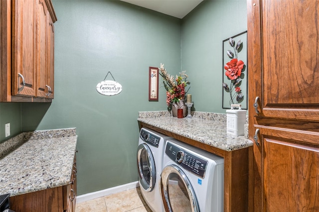
<svg viewBox="0 0 319 212">
<path fill-rule="evenodd" d="M 20 194 L 70 183 L 75 128 L 23 132 L 0 144 L 0 195 Z"/>
</svg>

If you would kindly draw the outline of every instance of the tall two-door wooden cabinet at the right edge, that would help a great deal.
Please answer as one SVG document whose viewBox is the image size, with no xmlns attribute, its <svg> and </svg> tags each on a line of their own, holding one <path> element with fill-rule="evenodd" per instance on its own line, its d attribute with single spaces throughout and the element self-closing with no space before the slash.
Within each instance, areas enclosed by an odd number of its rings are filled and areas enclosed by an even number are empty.
<svg viewBox="0 0 319 212">
<path fill-rule="evenodd" d="M 319 211 L 319 0 L 247 0 L 251 212 Z"/>
</svg>

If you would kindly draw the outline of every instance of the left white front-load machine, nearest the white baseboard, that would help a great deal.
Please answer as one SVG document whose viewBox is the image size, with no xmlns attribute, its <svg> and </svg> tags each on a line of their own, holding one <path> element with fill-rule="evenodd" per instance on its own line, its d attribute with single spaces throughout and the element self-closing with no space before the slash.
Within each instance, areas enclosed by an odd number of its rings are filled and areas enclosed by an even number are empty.
<svg viewBox="0 0 319 212">
<path fill-rule="evenodd" d="M 170 138 L 148 128 L 140 131 L 137 165 L 141 193 L 153 212 L 163 212 L 159 180 L 166 140 Z"/>
</svg>

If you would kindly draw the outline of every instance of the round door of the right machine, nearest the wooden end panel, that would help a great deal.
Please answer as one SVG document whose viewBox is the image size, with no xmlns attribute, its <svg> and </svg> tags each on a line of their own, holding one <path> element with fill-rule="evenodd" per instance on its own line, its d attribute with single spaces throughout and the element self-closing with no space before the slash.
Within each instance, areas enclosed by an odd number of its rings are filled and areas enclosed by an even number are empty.
<svg viewBox="0 0 319 212">
<path fill-rule="evenodd" d="M 172 164 L 162 170 L 160 191 L 166 212 L 199 212 L 195 192 L 178 166 Z"/>
</svg>

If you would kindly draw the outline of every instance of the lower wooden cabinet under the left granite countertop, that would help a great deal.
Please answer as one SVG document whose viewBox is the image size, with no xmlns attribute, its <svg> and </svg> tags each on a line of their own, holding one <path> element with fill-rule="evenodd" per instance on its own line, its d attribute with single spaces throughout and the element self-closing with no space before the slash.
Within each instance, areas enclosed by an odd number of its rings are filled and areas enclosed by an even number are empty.
<svg viewBox="0 0 319 212">
<path fill-rule="evenodd" d="M 75 212 L 76 158 L 68 185 L 10 197 L 15 212 Z"/>
</svg>

